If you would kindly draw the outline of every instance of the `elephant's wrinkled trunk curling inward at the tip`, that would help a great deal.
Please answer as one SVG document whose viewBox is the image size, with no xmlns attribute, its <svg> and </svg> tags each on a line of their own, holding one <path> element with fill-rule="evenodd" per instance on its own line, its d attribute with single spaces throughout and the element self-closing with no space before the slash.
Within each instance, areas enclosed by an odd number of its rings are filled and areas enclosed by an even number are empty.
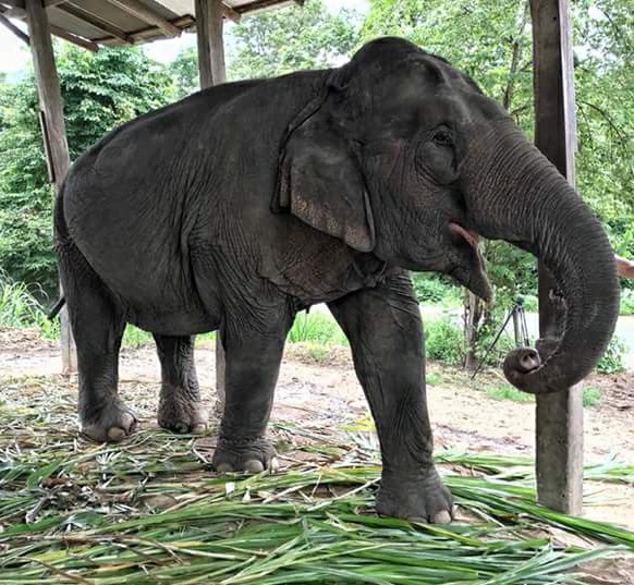
<svg viewBox="0 0 634 585">
<path fill-rule="evenodd" d="M 513 351 L 504 374 L 535 394 L 570 388 L 594 369 L 614 331 L 619 282 L 611 246 L 593 211 L 510 120 L 474 135 L 462 173 L 470 227 L 535 254 L 554 277 L 549 294 L 564 315 L 557 338 L 538 343 L 545 355 Z"/>
</svg>

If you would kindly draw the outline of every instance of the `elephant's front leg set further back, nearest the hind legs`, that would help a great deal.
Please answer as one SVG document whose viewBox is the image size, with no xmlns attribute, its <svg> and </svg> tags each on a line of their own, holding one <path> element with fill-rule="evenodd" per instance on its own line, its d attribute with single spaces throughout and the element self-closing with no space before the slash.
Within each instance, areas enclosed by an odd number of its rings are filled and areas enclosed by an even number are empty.
<svg viewBox="0 0 634 585">
<path fill-rule="evenodd" d="M 258 473 L 277 467 L 276 450 L 266 437 L 290 316 L 268 331 L 228 324 L 225 402 L 212 465 L 216 471 Z"/>
</svg>

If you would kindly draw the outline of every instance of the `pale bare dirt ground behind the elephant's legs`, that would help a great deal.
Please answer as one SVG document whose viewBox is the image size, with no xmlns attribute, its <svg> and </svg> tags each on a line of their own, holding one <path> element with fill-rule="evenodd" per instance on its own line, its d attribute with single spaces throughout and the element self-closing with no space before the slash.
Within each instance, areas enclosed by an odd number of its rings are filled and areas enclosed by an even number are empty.
<svg viewBox="0 0 634 585">
<path fill-rule="evenodd" d="M 272 421 L 309 421 L 313 426 L 319 422 L 324 426 L 370 429 L 367 403 L 348 350 L 332 349 L 312 355 L 314 352 L 302 344 L 288 346 Z M 212 348 L 197 348 L 196 364 L 204 400 L 211 406 L 216 376 Z M 41 341 L 35 331 L 0 330 L 0 382 L 59 371 L 58 349 Z M 428 374 L 435 382 L 427 391 L 437 449 L 533 454 L 535 406 L 489 398 L 486 389 L 503 383 L 498 373 L 486 373 L 471 382 L 462 373 L 431 364 Z M 142 425 L 156 425 L 160 369 L 154 348 L 125 349 L 120 361 L 120 378 L 121 393 L 139 414 Z M 634 374 L 593 376 L 587 383 L 600 388 L 601 399 L 584 410 L 586 462 L 615 458 L 632 464 Z M 602 502 L 587 507 L 586 515 L 634 528 L 634 486 L 588 484 L 586 495 Z M 605 503 L 607 500 L 609 504 Z"/>
</svg>

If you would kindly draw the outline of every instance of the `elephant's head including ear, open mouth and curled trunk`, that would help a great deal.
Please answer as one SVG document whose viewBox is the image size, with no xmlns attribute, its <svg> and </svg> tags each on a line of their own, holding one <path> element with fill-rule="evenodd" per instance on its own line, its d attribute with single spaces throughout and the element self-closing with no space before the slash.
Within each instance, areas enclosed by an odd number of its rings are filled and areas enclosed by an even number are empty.
<svg viewBox="0 0 634 585">
<path fill-rule="evenodd" d="M 619 287 L 599 221 L 501 106 L 409 41 L 375 40 L 328 73 L 290 125 L 277 197 L 352 248 L 450 275 L 485 300 L 478 237 L 532 252 L 554 276 L 565 319 L 545 358 L 508 356 L 522 390 L 573 386 L 609 343 Z"/>
</svg>

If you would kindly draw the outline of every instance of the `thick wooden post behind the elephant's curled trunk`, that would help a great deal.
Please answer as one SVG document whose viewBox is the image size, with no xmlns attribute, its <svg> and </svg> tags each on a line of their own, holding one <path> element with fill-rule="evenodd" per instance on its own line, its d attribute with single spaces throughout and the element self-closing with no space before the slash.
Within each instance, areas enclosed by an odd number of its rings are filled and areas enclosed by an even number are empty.
<svg viewBox="0 0 634 585">
<path fill-rule="evenodd" d="M 568 0 L 531 0 L 535 89 L 535 144 L 574 184 L 574 82 Z M 549 300 L 554 280 L 539 266 L 539 334 L 558 330 Z M 568 513 L 583 508 L 583 404 L 581 385 L 537 397 L 539 502 Z"/>
</svg>

